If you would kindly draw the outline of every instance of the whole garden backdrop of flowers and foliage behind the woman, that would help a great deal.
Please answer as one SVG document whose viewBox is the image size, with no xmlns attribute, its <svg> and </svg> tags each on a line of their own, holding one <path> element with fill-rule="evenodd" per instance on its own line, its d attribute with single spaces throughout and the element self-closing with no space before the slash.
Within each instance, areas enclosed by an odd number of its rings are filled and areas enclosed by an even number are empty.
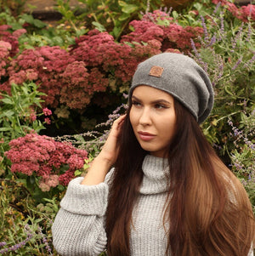
<svg viewBox="0 0 255 256">
<path fill-rule="evenodd" d="M 104 0 L 77 13 L 56 2 L 56 28 L 0 6 L 0 253 L 57 255 L 51 225 L 66 185 L 125 111 L 136 66 L 163 51 L 190 54 L 211 77 L 215 105 L 201 128 L 255 212 L 254 5 Z"/>
</svg>

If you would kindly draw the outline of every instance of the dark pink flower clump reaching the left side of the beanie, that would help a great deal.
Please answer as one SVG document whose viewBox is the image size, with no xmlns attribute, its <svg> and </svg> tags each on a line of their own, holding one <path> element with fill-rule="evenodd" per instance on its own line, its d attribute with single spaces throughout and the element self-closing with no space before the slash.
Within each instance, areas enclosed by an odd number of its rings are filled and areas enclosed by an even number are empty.
<svg viewBox="0 0 255 256">
<path fill-rule="evenodd" d="M 139 61 L 156 53 L 159 53 L 159 49 L 152 43 L 134 46 L 116 43 L 108 32 L 98 30 L 89 31 L 88 35 L 77 39 L 77 44 L 71 49 L 71 56 L 84 61 L 86 67 L 93 71 L 88 77 L 93 82 L 91 88 L 101 92 L 107 86 L 117 91 L 117 87 L 130 82 Z"/>
</svg>

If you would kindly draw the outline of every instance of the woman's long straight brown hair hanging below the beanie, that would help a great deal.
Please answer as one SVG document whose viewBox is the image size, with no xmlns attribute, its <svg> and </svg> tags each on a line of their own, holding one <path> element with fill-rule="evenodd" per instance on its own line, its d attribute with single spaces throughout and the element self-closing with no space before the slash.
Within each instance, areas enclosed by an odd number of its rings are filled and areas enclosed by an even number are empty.
<svg viewBox="0 0 255 256">
<path fill-rule="evenodd" d="M 119 155 L 106 213 L 110 256 L 130 256 L 133 204 L 143 179 L 144 151 L 127 118 L 119 138 Z M 178 100 L 176 132 L 169 145 L 169 173 L 164 223 L 167 255 L 247 255 L 254 240 L 251 203 L 238 179 L 214 153 L 201 128 Z M 170 207 L 171 206 L 171 207 Z"/>
</svg>

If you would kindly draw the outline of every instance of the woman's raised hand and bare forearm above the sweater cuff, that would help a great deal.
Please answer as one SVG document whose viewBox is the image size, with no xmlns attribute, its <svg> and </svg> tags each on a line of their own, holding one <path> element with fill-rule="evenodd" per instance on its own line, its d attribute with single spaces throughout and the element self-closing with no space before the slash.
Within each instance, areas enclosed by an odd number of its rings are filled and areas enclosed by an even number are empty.
<svg viewBox="0 0 255 256">
<path fill-rule="evenodd" d="M 120 134 L 125 117 L 126 115 L 123 115 L 113 122 L 105 145 L 99 153 L 99 156 L 94 158 L 94 161 L 88 170 L 88 174 L 82 180 L 82 185 L 97 185 L 105 180 L 105 175 L 116 162 L 118 154 L 117 138 Z"/>
</svg>

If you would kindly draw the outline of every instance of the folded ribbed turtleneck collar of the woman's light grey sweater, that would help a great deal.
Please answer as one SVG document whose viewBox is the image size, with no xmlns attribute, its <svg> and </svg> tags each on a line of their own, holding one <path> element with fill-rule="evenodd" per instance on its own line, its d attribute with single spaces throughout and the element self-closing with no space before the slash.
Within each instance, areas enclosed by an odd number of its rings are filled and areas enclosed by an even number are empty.
<svg viewBox="0 0 255 256">
<path fill-rule="evenodd" d="M 167 191 L 167 159 L 147 155 L 143 162 L 144 178 L 140 187 L 141 194 L 158 194 Z"/>
</svg>

